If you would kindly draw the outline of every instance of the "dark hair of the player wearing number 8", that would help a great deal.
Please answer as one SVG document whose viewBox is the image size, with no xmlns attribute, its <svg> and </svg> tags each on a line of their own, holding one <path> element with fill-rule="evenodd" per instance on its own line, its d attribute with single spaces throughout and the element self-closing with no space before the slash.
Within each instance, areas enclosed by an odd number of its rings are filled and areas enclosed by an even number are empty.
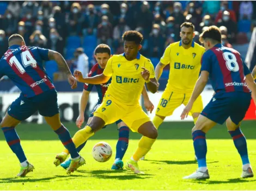
<svg viewBox="0 0 256 191">
<path fill-rule="evenodd" d="M 200 34 L 200 42 L 203 43 L 204 39 L 210 39 L 212 41 L 216 41 L 217 43 L 221 43 L 221 31 L 216 26 L 211 26 L 202 34 Z"/>
</svg>

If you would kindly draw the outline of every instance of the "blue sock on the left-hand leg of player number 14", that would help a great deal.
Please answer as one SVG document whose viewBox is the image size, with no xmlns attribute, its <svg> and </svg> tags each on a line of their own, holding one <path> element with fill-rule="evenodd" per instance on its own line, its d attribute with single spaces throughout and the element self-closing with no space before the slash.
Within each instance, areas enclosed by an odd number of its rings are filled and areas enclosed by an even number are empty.
<svg viewBox="0 0 256 191">
<path fill-rule="evenodd" d="M 27 161 L 27 158 L 21 147 L 20 137 L 17 135 L 15 128 L 14 127 L 2 128 L 2 130 L 9 147 L 19 158 L 20 163 Z"/>
</svg>

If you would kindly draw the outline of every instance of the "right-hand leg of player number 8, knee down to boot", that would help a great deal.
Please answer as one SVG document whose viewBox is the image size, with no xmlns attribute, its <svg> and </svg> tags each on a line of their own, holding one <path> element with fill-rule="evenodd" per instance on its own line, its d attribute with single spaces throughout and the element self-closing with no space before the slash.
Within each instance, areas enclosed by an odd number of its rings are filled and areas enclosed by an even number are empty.
<svg viewBox="0 0 256 191">
<path fill-rule="evenodd" d="M 246 138 L 240 129 L 241 122 L 238 125 L 236 125 L 235 123 L 232 122 L 232 120 L 229 117 L 227 119 L 226 124 L 228 128 L 228 132 L 230 136 L 233 138 L 235 148 L 239 152 L 239 155 L 242 159 L 241 177 L 242 178 L 253 177 L 253 171 L 252 171 L 252 167 L 248 157 Z"/>
</svg>

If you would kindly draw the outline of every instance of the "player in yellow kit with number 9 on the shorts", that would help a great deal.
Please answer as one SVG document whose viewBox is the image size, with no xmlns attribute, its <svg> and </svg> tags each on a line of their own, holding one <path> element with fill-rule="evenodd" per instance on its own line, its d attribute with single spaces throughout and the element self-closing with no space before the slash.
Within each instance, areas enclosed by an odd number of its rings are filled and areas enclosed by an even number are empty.
<svg viewBox="0 0 256 191">
<path fill-rule="evenodd" d="M 149 59 L 139 54 L 142 40 L 143 36 L 138 31 L 125 31 L 123 34 L 125 53 L 113 55 L 102 74 L 83 78 L 80 71 L 74 72 L 78 81 L 88 84 L 106 83 L 112 77 L 102 104 L 94 112 L 91 122 L 74 136 L 76 147 L 103 126 L 121 119 L 132 131 L 143 135 L 135 154 L 126 163 L 126 169 L 136 174 L 141 173 L 137 163 L 139 158 L 147 154 L 157 138 L 154 124 L 139 105 L 139 97 L 145 82 L 150 92 L 157 91 L 154 66 Z"/>
</svg>

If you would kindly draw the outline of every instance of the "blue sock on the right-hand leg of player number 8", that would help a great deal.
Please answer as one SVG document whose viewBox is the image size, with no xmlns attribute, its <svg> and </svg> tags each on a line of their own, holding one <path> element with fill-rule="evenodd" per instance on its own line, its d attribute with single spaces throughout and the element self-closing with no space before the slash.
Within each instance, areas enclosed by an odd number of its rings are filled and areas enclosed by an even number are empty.
<svg viewBox="0 0 256 191">
<path fill-rule="evenodd" d="M 241 156 L 242 163 L 248 164 L 249 158 L 248 158 L 248 152 L 247 152 L 247 143 L 246 143 L 246 138 L 243 135 L 241 129 L 237 128 L 235 131 L 228 131 L 228 132 L 233 138 L 235 148 L 237 149 L 237 151 Z"/>
</svg>

